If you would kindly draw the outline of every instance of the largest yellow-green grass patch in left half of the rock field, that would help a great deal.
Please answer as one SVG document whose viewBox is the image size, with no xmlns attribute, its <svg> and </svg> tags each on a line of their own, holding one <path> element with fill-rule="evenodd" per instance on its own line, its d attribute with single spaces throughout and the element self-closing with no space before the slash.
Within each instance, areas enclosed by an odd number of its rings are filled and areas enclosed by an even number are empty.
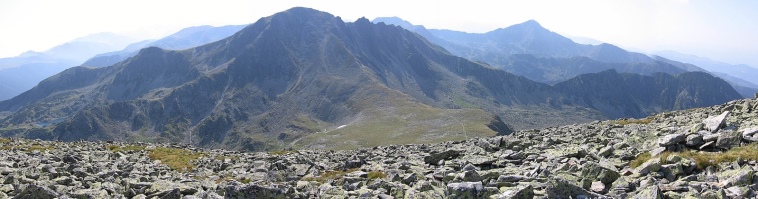
<svg viewBox="0 0 758 199">
<path fill-rule="evenodd" d="M 169 168 L 177 171 L 192 170 L 192 161 L 203 156 L 201 153 L 185 149 L 158 147 L 151 149 L 148 156 L 153 160 L 160 160 Z"/>
</svg>

